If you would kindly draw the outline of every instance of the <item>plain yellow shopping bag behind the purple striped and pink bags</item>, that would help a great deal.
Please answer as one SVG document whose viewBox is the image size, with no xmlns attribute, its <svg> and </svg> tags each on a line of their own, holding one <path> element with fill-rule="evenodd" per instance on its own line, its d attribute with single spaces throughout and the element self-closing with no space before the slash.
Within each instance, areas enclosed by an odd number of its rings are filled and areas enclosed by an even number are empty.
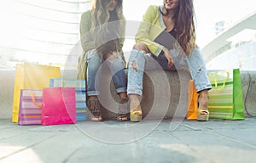
<svg viewBox="0 0 256 163">
<path fill-rule="evenodd" d="M 16 65 L 12 121 L 18 122 L 19 119 L 20 89 L 43 89 L 49 87 L 50 78 L 59 77 L 59 67 L 30 63 Z"/>
</svg>

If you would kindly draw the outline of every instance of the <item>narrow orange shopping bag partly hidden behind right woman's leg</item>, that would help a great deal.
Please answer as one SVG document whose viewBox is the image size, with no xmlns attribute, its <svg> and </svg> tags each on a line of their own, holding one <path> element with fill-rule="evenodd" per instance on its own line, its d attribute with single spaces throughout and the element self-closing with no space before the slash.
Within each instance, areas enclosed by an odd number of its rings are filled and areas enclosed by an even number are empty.
<svg viewBox="0 0 256 163">
<path fill-rule="evenodd" d="M 188 112 L 187 112 L 187 119 L 188 120 L 196 120 L 197 119 L 197 98 L 199 93 L 196 93 L 195 84 L 193 80 L 189 80 L 189 87 L 188 87 Z"/>
</svg>

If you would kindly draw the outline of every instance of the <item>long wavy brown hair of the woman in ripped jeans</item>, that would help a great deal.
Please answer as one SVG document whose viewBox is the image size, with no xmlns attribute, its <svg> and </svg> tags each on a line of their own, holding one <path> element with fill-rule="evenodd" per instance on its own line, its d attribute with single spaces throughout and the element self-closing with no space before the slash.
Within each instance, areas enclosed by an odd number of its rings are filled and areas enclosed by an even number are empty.
<svg viewBox="0 0 256 163">
<path fill-rule="evenodd" d="M 168 10 L 166 14 L 168 14 Z M 172 19 L 175 20 L 177 42 L 187 55 L 190 55 L 191 48 L 195 48 L 196 46 L 194 18 L 195 10 L 193 0 L 179 0 L 179 7 Z"/>
</svg>

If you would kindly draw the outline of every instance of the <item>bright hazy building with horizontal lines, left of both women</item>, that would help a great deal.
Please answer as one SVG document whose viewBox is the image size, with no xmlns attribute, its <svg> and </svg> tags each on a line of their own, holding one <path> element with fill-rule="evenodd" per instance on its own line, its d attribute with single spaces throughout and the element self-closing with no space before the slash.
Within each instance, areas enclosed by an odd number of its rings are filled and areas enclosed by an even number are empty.
<svg viewBox="0 0 256 163">
<path fill-rule="evenodd" d="M 9 0 L 0 4 L 0 66 L 76 63 L 81 14 L 90 0 Z M 72 62 L 72 60 L 74 60 Z M 68 65 L 75 67 L 76 65 Z"/>
</svg>

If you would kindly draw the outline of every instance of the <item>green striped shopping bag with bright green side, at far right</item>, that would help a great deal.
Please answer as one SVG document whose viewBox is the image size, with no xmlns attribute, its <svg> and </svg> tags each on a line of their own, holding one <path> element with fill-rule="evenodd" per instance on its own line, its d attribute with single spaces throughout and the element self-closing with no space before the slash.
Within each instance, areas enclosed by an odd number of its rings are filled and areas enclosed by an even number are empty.
<svg viewBox="0 0 256 163">
<path fill-rule="evenodd" d="M 209 91 L 210 118 L 243 120 L 244 105 L 240 70 L 218 70 L 208 73 L 212 89 Z"/>
</svg>

